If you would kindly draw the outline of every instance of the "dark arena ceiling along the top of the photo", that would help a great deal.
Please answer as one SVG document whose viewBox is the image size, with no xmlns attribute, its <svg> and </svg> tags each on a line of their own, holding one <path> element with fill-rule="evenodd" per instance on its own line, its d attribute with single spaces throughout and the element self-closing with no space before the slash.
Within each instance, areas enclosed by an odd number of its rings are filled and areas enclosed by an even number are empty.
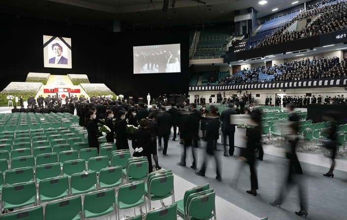
<svg viewBox="0 0 347 220">
<path fill-rule="evenodd" d="M 261 18 L 307 0 L 267 0 L 265 4 L 259 4 L 260 0 L 167 0 L 168 10 L 163 12 L 164 1 L 1 0 L 0 13 L 105 28 L 110 20 L 120 21 L 132 29 L 232 22 L 235 10 L 250 7 Z M 272 11 L 275 8 L 278 9 Z"/>
</svg>

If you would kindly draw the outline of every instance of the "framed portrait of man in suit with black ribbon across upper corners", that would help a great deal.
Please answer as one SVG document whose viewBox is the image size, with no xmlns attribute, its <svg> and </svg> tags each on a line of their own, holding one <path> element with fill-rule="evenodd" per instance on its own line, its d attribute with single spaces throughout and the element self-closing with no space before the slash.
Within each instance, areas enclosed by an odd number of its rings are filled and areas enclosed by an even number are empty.
<svg viewBox="0 0 347 220">
<path fill-rule="evenodd" d="M 43 63 L 49 68 L 72 68 L 71 38 L 43 35 Z"/>
</svg>

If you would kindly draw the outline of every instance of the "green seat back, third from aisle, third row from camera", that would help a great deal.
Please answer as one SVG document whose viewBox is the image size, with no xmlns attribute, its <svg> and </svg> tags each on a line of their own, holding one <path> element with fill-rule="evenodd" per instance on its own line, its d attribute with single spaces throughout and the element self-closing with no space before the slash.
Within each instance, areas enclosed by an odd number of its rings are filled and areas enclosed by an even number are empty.
<svg viewBox="0 0 347 220">
<path fill-rule="evenodd" d="M 96 189 L 96 171 L 86 171 L 71 175 L 71 194 L 82 194 Z"/>
</svg>

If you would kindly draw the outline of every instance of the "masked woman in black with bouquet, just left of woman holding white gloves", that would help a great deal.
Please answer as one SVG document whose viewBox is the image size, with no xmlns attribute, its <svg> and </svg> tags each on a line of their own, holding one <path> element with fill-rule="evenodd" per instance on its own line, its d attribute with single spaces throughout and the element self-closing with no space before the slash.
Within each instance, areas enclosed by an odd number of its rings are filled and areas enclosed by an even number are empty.
<svg viewBox="0 0 347 220">
<path fill-rule="evenodd" d="M 115 123 L 115 131 L 116 131 L 116 145 L 117 150 L 129 150 L 129 144 L 127 139 L 126 132 L 126 122 L 125 112 L 119 110 L 117 112 L 116 123 Z"/>
</svg>

